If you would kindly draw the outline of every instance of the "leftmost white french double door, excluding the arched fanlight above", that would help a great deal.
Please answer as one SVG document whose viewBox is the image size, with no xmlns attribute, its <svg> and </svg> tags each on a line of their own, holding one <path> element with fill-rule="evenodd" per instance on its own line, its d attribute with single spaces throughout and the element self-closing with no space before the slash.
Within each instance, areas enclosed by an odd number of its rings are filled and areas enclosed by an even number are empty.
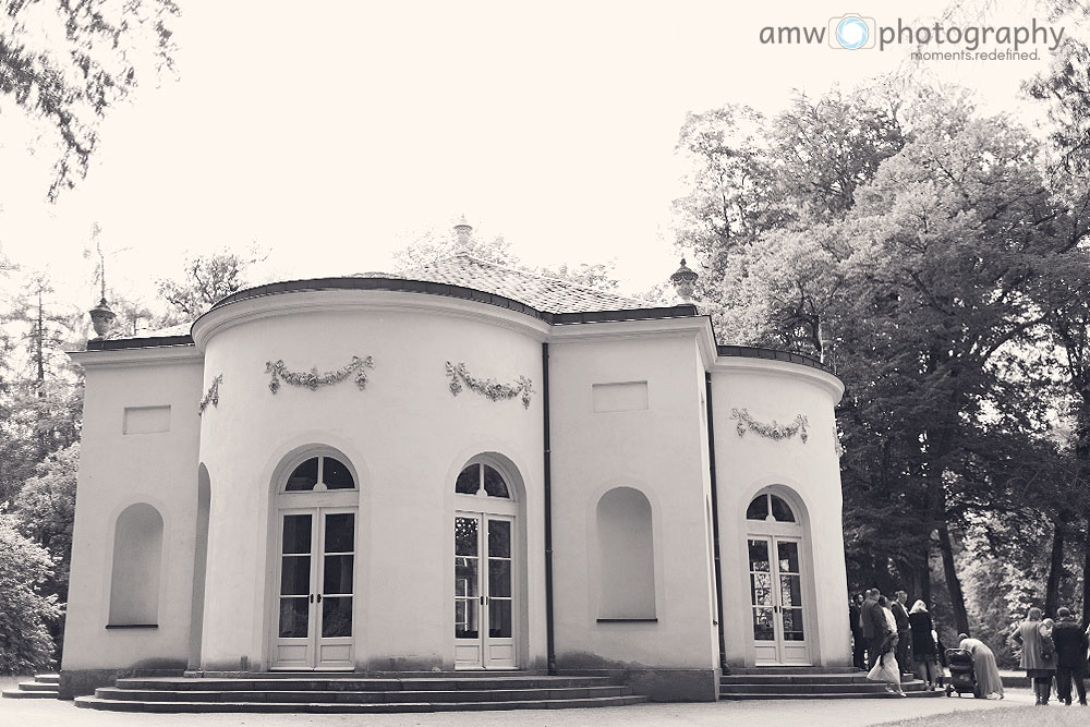
<svg viewBox="0 0 1090 727">
<path fill-rule="evenodd" d="M 274 669 L 351 669 L 355 508 L 282 509 Z"/>
</svg>

